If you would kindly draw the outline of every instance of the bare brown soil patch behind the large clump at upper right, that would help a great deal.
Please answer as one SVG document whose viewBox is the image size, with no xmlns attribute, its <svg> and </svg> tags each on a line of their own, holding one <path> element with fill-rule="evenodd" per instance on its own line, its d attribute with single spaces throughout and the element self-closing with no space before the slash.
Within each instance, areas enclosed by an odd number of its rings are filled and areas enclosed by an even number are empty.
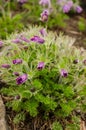
<svg viewBox="0 0 86 130">
<path fill-rule="evenodd" d="M 54 27 L 53 30 L 59 34 L 59 32 L 63 32 L 65 35 L 75 38 L 75 46 L 83 47 L 86 49 L 86 31 L 81 32 L 78 29 L 78 21 L 80 17 L 84 17 L 86 19 L 86 11 L 82 14 L 69 14 L 70 19 L 66 21 L 67 27 L 66 28 L 58 28 Z"/>
</svg>

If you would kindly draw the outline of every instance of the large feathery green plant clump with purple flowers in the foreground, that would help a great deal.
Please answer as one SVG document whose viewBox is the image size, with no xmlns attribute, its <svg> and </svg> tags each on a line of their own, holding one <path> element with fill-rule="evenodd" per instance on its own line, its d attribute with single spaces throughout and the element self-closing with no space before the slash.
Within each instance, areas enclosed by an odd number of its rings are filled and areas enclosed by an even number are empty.
<svg viewBox="0 0 86 130">
<path fill-rule="evenodd" d="M 12 97 L 6 105 L 16 112 L 15 121 L 27 113 L 52 113 L 59 120 L 85 111 L 86 52 L 74 47 L 74 41 L 34 26 L 2 41 L 0 79 L 7 87 L 0 92 Z"/>
</svg>

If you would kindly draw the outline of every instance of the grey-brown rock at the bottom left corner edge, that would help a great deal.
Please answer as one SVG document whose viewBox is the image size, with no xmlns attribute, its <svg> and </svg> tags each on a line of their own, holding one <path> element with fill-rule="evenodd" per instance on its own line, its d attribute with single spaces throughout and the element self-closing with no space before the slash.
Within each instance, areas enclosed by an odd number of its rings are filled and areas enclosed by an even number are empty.
<svg viewBox="0 0 86 130">
<path fill-rule="evenodd" d="M 0 130 L 7 130 L 6 120 L 5 120 L 5 107 L 0 96 Z"/>
</svg>

